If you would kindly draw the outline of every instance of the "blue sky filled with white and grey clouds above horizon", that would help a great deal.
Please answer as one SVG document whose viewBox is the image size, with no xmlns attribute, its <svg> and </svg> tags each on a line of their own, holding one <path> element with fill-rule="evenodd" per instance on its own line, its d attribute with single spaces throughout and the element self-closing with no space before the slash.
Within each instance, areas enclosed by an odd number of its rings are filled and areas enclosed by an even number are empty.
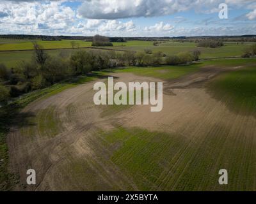
<svg viewBox="0 0 256 204">
<path fill-rule="evenodd" d="M 227 4 L 227 19 L 219 17 L 221 3 Z M 256 0 L 1 0 L 0 34 L 256 34 Z"/>
</svg>

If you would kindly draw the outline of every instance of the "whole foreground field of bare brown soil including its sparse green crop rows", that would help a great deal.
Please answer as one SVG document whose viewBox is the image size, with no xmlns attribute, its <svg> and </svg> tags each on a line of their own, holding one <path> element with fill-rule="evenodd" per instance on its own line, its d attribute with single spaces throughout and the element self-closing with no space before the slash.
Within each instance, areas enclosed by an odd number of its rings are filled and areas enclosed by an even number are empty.
<svg viewBox="0 0 256 204">
<path fill-rule="evenodd" d="M 34 101 L 22 110 L 28 122 L 8 135 L 10 170 L 20 175 L 15 190 L 256 190 L 255 117 L 230 111 L 205 89 L 233 69 L 243 67 L 208 66 L 164 81 L 163 110 L 155 113 L 148 105 L 94 105 L 95 82 Z M 36 186 L 26 186 L 29 168 Z M 230 172 L 228 186 L 218 184 L 221 168 Z"/>
</svg>

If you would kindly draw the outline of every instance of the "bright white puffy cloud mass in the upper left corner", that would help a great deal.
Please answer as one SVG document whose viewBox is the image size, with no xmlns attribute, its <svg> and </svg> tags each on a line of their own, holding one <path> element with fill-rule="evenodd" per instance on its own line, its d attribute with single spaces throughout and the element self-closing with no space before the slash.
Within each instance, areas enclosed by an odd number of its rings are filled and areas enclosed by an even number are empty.
<svg viewBox="0 0 256 204">
<path fill-rule="evenodd" d="M 13 33 L 23 27 L 22 33 L 36 31 L 36 29 L 65 29 L 74 22 L 76 12 L 58 1 L 47 3 L 23 2 L 0 3 L 2 24 L 0 31 Z"/>
</svg>

